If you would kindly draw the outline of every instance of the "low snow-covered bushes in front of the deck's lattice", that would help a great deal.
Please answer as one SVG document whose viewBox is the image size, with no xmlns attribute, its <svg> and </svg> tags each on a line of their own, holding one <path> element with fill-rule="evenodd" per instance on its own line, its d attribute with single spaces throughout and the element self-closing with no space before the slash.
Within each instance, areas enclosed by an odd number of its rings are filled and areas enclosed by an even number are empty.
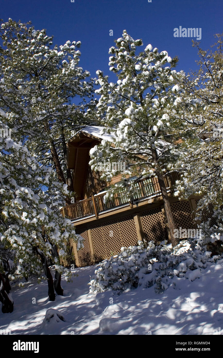
<svg viewBox="0 0 223 358">
<path fill-rule="evenodd" d="M 223 237 L 220 237 L 223 241 Z M 194 281 L 202 275 L 202 269 L 215 262 L 220 256 L 212 256 L 199 242 L 183 240 L 174 248 L 153 241 L 145 248 L 138 246 L 122 247 L 121 253 L 102 261 L 90 281 L 90 290 L 103 292 L 112 289 L 116 293 L 133 287 L 151 287 L 160 293 L 168 288 L 174 277 L 186 277 Z"/>
</svg>

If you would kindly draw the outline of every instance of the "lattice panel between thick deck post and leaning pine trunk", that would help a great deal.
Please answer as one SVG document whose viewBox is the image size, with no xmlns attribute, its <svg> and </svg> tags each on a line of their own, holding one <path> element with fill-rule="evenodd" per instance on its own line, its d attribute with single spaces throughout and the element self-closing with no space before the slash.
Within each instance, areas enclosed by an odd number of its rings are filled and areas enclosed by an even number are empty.
<svg viewBox="0 0 223 358">
<path fill-rule="evenodd" d="M 157 244 L 168 239 L 160 207 L 142 212 L 141 220 L 147 242 L 153 240 Z"/>
</svg>

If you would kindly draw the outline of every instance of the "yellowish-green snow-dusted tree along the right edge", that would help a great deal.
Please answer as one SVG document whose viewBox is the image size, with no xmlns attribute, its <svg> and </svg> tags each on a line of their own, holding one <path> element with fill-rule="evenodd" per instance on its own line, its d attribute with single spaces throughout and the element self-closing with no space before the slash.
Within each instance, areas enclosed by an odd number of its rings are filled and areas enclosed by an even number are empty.
<svg viewBox="0 0 223 358">
<path fill-rule="evenodd" d="M 223 34 L 222 34 L 223 35 Z M 181 96 L 181 118 L 188 123 L 199 145 L 188 143 L 189 155 L 186 162 L 190 170 L 184 173 L 178 184 L 182 197 L 193 194 L 203 195 L 199 200 L 197 216 L 202 221 L 202 214 L 208 207 L 214 208 L 215 225 L 211 221 L 202 224 L 205 236 L 223 235 L 223 52 L 222 35 L 217 34 L 214 50 L 203 50 L 199 43 L 199 70 L 185 78 L 185 93 Z M 182 163 L 182 159 L 179 165 Z M 185 158 L 184 158 L 185 160 Z M 212 212 L 209 218 L 212 219 Z"/>
</svg>

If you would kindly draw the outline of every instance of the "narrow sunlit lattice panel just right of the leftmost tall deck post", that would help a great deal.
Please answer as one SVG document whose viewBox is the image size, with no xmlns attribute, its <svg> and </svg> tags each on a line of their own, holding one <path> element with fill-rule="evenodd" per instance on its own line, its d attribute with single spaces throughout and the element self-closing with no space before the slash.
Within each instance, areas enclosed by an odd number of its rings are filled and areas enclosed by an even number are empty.
<svg viewBox="0 0 223 358">
<path fill-rule="evenodd" d="M 93 226 L 91 228 L 91 236 L 93 241 L 95 260 L 104 260 L 108 257 L 108 254 L 106 251 L 102 227 L 100 225 Z"/>
</svg>

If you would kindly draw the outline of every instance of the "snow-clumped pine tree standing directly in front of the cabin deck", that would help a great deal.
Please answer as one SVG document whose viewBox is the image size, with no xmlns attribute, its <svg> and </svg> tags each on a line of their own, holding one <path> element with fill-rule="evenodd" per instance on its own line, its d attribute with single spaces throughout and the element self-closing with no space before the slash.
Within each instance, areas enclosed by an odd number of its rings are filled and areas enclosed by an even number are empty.
<svg viewBox="0 0 223 358">
<path fill-rule="evenodd" d="M 125 161 L 125 174 L 137 177 L 156 175 L 163 195 L 172 244 L 174 238 L 174 217 L 171 211 L 164 174 L 168 165 L 174 163 L 181 147 L 179 138 L 190 137 L 185 121 L 176 118 L 176 104 L 179 101 L 180 83 L 183 71 L 173 68 L 178 61 L 170 58 L 166 51 L 159 53 L 149 44 L 144 52 L 136 54 L 142 40 L 134 40 L 123 31 L 121 38 L 111 47 L 110 71 L 117 74 L 117 83 L 109 82 L 108 76 L 97 71 L 96 93 L 101 97 L 97 104 L 97 117 L 107 131 L 116 135 L 115 147 L 106 140 L 91 151 L 92 168 L 96 170 L 100 161 Z M 115 173 L 103 173 L 103 179 L 111 180 Z"/>
</svg>

